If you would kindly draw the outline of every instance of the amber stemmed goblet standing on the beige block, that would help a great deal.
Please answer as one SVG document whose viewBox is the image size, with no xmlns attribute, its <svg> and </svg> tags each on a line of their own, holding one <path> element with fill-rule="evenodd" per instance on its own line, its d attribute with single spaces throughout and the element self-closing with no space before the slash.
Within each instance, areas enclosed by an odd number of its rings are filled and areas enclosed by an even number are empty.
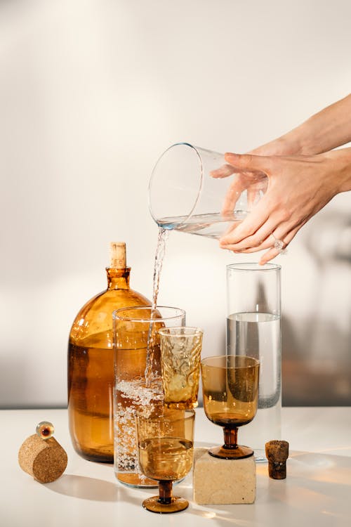
<svg viewBox="0 0 351 527">
<path fill-rule="evenodd" d="M 259 369 L 256 358 L 239 355 L 201 361 L 206 417 L 224 429 L 224 445 L 208 450 L 213 457 L 232 460 L 253 455 L 251 448 L 237 444 L 237 429 L 256 415 Z"/>
</svg>

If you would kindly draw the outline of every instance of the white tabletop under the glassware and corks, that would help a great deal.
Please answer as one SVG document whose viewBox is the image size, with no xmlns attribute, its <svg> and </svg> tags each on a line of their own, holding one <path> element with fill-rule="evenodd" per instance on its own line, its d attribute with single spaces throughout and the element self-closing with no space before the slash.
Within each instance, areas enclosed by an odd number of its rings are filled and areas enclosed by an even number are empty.
<svg viewBox="0 0 351 527">
<path fill-rule="evenodd" d="M 141 506 L 153 490 L 117 482 L 112 465 L 83 460 L 71 445 L 67 410 L 1 410 L 1 527 L 341 527 L 351 526 L 351 408 L 283 408 L 283 438 L 290 443 L 287 478 L 275 481 L 257 465 L 253 505 L 197 505 L 192 476 L 177 487 L 190 501 L 184 512 L 159 515 Z M 43 420 L 67 451 L 60 479 L 42 485 L 18 465 L 22 442 Z M 197 409 L 197 445 L 218 444 L 220 427 Z M 230 482 L 228 482 L 230 484 Z"/>
</svg>

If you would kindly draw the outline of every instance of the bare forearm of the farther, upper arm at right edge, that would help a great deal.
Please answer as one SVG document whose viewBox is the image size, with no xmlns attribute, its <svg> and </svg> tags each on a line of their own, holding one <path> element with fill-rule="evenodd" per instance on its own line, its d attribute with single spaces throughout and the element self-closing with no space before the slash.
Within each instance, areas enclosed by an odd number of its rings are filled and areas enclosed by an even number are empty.
<svg viewBox="0 0 351 527">
<path fill-rule="evenodd" d="M 351 141 L 351 94 L 279 138 L 287 154 L 321 154 Z M 289 151 L 290 150 L 290 151 Z"/>
</svg>

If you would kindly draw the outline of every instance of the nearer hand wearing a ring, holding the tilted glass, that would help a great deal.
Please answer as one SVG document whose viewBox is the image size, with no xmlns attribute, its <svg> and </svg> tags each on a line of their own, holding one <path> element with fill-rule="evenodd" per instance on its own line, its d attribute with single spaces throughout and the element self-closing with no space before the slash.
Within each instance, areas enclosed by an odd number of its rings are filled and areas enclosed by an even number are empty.
<svg viewBox="0 0 351 527">
<path fill-rule="evenodd" d="M 225 160 L 239 176 L 248 172 L 265 174 L 267 191 L 249 216 L 220 239 L 220 247 L 245 253 L 268 249 L 261 264 L 277 256 L 281 250 L 274 247 L 274 240 L 282 240 L 285 248 L 298 230 L 342 191 L 336 172 L 339 170 L 343 179 L 345 166 L 341 162 L 338 169 L 336 157 L 343 156 L 338 152 L 343 150 L 314 156 L 227 153 Z"/>
</svg>

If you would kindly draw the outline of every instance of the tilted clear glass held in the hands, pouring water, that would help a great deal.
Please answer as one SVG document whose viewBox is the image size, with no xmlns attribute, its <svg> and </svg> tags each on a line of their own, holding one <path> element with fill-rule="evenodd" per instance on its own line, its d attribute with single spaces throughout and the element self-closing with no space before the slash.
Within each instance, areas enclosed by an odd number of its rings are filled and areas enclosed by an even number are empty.
<svg viewBox="0 0 351 527">
<path fill-rule="evenodd" d="M 189 143 L 172 145 L 150 178 L 154 221 L 166 229 L 220 238 L 246 217 L 267 183 L 265 174 L 232 175 L 232 170 L 223 154 Z"/>
</svg>

